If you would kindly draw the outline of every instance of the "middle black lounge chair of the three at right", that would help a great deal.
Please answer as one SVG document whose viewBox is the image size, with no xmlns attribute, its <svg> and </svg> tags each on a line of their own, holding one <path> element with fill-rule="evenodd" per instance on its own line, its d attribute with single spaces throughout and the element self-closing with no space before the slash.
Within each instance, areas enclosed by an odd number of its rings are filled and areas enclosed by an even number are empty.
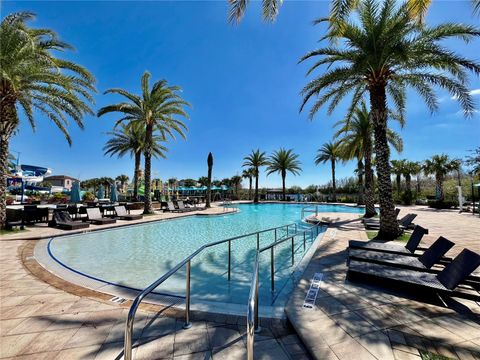
<svg viewBox="0 0 480 360">
<path fill-rule="evenodd" d="M 373 262 L 382 265 L 397 266 L 411 270 L 431 269 L 440 262 L 455 243 L 440 236 L 422 255 L 416 257 L 413 254 L 392 254 L 378 251 L 350 249 L 348 263 L 352 260 Z"/>
</svg>

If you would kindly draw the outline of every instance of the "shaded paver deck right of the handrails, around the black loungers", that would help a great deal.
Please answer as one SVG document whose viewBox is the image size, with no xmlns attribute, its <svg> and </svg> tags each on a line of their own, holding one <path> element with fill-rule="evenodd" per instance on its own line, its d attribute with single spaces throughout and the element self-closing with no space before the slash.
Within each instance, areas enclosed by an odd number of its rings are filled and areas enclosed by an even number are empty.
<svg viewBox="0 0 480 360">
<path fill-rule="evenodd" d="M 471 214 L 402 208 L 418 214 L 416 223 L 430 229 L 426 243 L 439 235 L 479 251 L 480 220 Z M 416 298 L 377 286 L 346 280 L 348 240 L 367 241 L 355 216 L 328 214 L 337 222 L 327 230 L 286 313 L 297 334 L 316 359 L 418 359 L 429 351 L 452 359 L 480 359 L 480 305 L 450 299 Z M 319 215 L 319 217 L 325 214 Z M 460 249 L 457 249 L 460 248 Z M 315 273 L 323 281 L 315 308 L 302 308 Z"/>
</svg>

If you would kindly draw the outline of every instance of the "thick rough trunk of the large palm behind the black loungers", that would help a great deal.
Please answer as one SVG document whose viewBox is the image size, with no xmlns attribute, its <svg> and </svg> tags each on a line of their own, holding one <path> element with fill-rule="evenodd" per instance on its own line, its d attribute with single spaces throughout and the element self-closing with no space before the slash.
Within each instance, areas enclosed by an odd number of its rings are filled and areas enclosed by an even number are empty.
<svg viewBox="0 0 480 360">
<path fill-rule="evenodd" d="M 378 192 L 380 201 L 379 239 L 395 239 L 400 235 L 390 178 L 390 148 L 387 141 L 387 98 L 385 84 L 369 88 L 370 107 L 375 135 L 375 155 L 377 161 Z"/>
</svg>

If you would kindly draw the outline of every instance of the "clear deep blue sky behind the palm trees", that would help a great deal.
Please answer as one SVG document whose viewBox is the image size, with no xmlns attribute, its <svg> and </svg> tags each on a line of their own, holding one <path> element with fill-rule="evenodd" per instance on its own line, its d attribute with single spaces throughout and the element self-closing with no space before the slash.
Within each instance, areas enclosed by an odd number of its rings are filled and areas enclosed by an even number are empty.
<svg viewBox="0 0 480 360">
<path fill-rule="evenodd" d="M 103 95 L 111 87 L 138 92 L 142 73 L 167 79 L 183 88 L 189 110 L 188 141 L 169 143 L 168 159 L 153 161 L 153 175 L 198 178 L 206 175 L 206 158 L 214 155 L 214 178 L 241 173 L 243 157 L 252 149 L 268 153 L 293 148 L 303 164 L 301 176 L 287 176 L 287 186 L 321 184 L 330 179 L 329 165 L 315 166 L 316 150 L 329 141 L 332 125 L 346 104 L 328 116 L 320 111 L 311 122 L 299 114 L 299 91 L 308 79 L 309 64 L 297 64 L 300 56 L 319 46 L 325 28 L 312 26 L 314 18 L 328 12 L 326 1 L 287 1 L 274 24 L 261 21 L 260 6 L 252 2 L 239 26 L 226 21 L 226 1 L 181 2 L 3 2 L 2 17 L 12 11 L 37 14 L 34 26 L 52 28 L 74 45 L 66 57 L 86 66 L 97 78 L 95 109 L 118 100 Z M 428 23 L 457 21 L 479 23 L 469 1 L 436 1 Z M 462 55 L 480 60 L 480 42 L 448 44 Z M 470 88 L 480 105 L 480 81 Z M 438 113 L 431 115 L 415 94 L 408 99 L 406 127 L 401 130 L 405 150 L 393 158 L 423 160 L 436 153 L 463 157 L 480 141 L 480 116 L 464 119 L 459 105 L 439 93 Z M 47 119 L 37 117 L 35 133 L 23 121 L 11 150 L 20 162 L 47 166 L 55 174 L 81 179 L 131 176 L 133 160 L 104 157 L 115 116 L 85 118 L 85 130 L 73 123 L 69 147 Z M 338 177 L 351 176 L 353 162 L 339 165 Z M 260 186 L 280 186 L 276 175 L 262 174 Z"/>
</svg>

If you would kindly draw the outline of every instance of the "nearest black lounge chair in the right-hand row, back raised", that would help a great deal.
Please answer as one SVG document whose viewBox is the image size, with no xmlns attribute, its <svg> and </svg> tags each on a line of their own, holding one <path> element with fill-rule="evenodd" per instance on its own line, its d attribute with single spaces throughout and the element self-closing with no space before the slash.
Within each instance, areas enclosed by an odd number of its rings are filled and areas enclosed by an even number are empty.
<svg viewBox="0 0 480 360">
<path fill-rule="evenodd" d="M 478 266 L 480 266 L 480 255 L 468 249 L 463 249 L 438 274 L 352 260 L 348 267 L 348 278 L 349 280 L 383 280 L 386 285 L 392 285 L 392 283 L 403 284 L 409 288 L 416 287 L 419 290 L 434 291 L 479 301 L 480 294 L 478 291 L 463 284 L 460 285 Z"/>
</svg>

